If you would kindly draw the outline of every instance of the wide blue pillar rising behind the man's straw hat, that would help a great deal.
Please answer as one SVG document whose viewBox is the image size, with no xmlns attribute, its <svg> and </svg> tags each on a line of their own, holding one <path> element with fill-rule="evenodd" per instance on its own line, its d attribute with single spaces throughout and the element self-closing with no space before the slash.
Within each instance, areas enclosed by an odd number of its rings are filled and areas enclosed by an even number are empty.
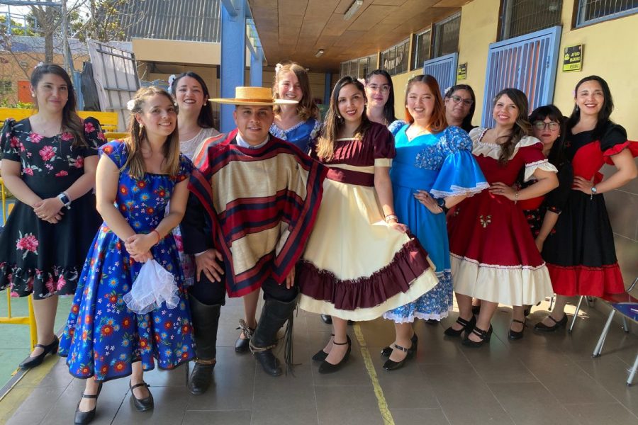
<svg viewBox="0 0 638 425">
<path fill-rule="evenodd" d="M 234 98 L 235 87 L 244 86 L 246 69 L 246 0 L 221 2 L 220 92 L 223 98 Z M 235 128 L 233 105 L 221 105 L 220 131 Z"/>
</svg>

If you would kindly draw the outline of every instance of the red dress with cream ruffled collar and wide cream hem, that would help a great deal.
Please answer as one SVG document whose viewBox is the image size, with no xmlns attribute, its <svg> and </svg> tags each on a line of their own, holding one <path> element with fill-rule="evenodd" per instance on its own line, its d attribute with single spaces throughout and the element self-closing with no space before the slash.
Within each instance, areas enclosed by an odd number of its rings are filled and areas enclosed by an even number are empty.
<svg viewBox="0 0 638 425">
<path fill-rule="evenodd" d="M 523 137 L 507 164 L 500 145 L 482 142 L 475 128 L 472 153 L 487 181 L 512 186 L 520 171 L 530 180 L 537 169 L 556 172 L 535 137 Z M 448 217 L 454 292 L 505 305 L 536 304 L 552 295 L 549 272 L 521 208 L 505 196 L 483 191 L 461 202 Z"/>
</svg>

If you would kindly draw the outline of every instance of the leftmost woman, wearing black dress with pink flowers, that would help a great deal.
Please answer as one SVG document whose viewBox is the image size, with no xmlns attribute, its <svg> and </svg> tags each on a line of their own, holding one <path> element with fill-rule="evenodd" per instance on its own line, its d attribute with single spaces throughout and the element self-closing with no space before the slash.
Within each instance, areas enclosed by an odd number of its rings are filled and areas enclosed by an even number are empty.
<svg viewBox="0 0 638 425">
<path fill-rule="evenodd" d="M 104 140 L 94 118 L 75 113 L 68 74 L 41 64 L 31 74 L 38 112 L 7 120 L 0 134 L 2 177 L 18 202 L 0 237 L 0 289 L 33 294 L 38 344 L 21 363 L 33 368 L 58 348 L 53 325 L 58 295 L 72 295 L 91 235 L 95 211 L 97 149 Z"/>
</svg>

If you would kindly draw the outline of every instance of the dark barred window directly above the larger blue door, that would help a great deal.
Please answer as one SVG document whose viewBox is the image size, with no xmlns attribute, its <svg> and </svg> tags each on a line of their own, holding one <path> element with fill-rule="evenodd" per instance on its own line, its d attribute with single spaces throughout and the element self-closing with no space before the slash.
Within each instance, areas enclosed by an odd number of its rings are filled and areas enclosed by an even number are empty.
<svg viewBox="0 0 638 425">
<path fill-rule="evenodd" d="M 560 25 L 562 8 L 562 0 L 503 0 L 500 39 Z"/>
</svg>

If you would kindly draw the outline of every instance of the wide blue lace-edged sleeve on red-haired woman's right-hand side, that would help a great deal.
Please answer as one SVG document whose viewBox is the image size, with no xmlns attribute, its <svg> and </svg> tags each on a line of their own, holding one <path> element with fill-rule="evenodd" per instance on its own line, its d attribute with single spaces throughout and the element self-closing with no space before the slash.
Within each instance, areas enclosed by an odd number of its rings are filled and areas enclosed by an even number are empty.
<svg viewBox="0 0 638 425">
<path fill-rule="evenodd" d="M 472 196 L 489 187 L 472 155 L 472 140 L 464 130 L 454 126 L 446 128 L 439 145 L 447 150 L 447 157 L 430 189 L 432 196 Z"/>
</svg>

